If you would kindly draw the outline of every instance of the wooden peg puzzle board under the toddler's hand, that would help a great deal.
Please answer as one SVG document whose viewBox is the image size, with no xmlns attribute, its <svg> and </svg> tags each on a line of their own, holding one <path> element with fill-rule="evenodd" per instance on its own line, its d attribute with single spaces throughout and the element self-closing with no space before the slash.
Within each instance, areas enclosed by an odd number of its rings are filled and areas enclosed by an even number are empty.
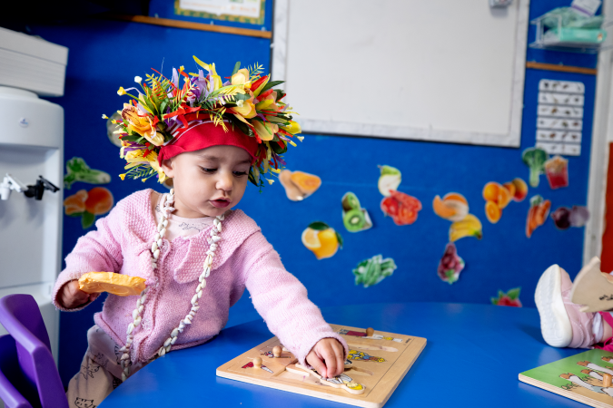
<svg viewBox="0 0 613 408">
<path fill-rule="evenodd" d="M 350 376 L 353 382 L 362 384 L 364 393 L 359 395 L 347 393 L 321 384 L 320 380 L 310 374 L 294 374 L 286 371 L 287 365 L 297 363 L 292 353 L 283 351 L 279 358 L 267 355 L 272 355 L 272 347 L 281 345 L 277 337 L 272 337 L 223 364 L 217 368 L 217 375 L 337 403 L 379 408 L 388 401 L 391 393 L 426 346 L 426 339 L 422 337 L 375 330 L 371 337 L 384 338 L 366 338 L 366 330 L 363 328 L 345 325 L 331 325 L 331 327 L 341 334 L 351 350 L 352 366 L 346 369 L 344 374 Z M 252 367 L 252 361 L 256 357 L 262 358 L 262 369 Z"/>
</svg>

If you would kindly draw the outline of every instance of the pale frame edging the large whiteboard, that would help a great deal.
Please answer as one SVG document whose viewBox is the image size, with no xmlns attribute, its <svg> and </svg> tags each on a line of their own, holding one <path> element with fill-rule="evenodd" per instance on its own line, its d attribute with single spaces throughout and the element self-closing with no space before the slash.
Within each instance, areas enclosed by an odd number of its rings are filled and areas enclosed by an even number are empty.
<svg viewBox="0 0 613 408">
<path fill-rule="evenodd" d="M 504 133 L 476 131 L 442 131 L 411 126 L 390 126 L 346 121 L 300 120 L 303 133 L 347 135 L 403 139 L 412 141 L 442 141 L 486 146 L 516 147 L 521 143 L 524 78 L 526 76 L 526 49 L 528 46 L 529 0 L 519 2 L 515 33 L 515 59 L 513 66 L 509 130 Z M 288 21 L 290 0 L 275 0 L 272 25 L 272 78 L 286 78 Z"/>
</svg>

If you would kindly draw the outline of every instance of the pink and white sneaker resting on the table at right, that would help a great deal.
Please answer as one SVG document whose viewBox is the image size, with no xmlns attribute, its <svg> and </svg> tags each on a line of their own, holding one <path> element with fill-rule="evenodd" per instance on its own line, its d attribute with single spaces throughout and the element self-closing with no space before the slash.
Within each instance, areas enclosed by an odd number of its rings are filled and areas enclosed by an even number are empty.
<svg viewBox="0 0 613 408">
<path fill-rule="evenodd" d="M 539 278 L 534 300 L 539 309 L 540 331 L 548 345 L 588 348 L 597 343 L 593 334 L 594 313 L 581 313 L 570 301 L 572 281 L 559 267 L 548 267 Z"/>
</svg>

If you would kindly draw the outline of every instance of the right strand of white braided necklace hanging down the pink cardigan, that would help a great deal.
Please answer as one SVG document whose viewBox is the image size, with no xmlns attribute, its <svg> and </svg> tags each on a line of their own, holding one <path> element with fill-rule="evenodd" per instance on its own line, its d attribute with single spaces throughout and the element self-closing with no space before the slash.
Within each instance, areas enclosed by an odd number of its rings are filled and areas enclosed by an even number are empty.
<svg viewBox="0 0 613 408">
<path fill-rule="evenodd" d="M 203 289 L 206 287 L 206 277 L 211 275 L 211 266 L 213 265 L 213 257 L 215 256 L 215 251 L 218 248 L 218 242 L 222 240 L 222 237 L 218 235 L 218 233 L 222 232 L 222 220 L 224 219 L 223 214 L 221 216 L 213 219 L 213 228 L 211 229 L 211 238 L 208 239 L 209 242 L 209 250 L 206 251 L 206 258 L 204 259 L 203 265 L 203 273 L 198 277 L 198 286 L 196 287 L 196 294 L 192 297 L 191 303 L 192 308 L 190 309 L 190 313 L 185 316 L 177 327 L 173 328 L 173 331 L 170 334 L 170 337 L 163 342 L 163 346 L 160 347 L 157 354 L 162 356 L 168 353 L 171 350 L 171 347 L 177 341 L 177 337 L 179 333 L 183 333 L 185 329 L 185 325 L 191 325 L 193 317 L 196 316 L 196 312 L 200 308 L 198 306 L 198 299 L 203 296 Z"/>
</svg>

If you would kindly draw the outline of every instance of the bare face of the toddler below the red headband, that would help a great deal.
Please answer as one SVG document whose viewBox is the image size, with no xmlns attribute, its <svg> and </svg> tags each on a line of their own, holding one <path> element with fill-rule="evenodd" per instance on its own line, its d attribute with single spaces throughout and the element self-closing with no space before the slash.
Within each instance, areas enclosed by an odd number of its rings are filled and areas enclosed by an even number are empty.
<svg viewBox="0 0 613 408">
<path fill-rule="evenodd" d="M 236 206 L 247 187 L 252 157 L 235 146 L 213 146 L 163 160 L 173 178 L 178 217 L 216 217 Z"/>
</svg>

